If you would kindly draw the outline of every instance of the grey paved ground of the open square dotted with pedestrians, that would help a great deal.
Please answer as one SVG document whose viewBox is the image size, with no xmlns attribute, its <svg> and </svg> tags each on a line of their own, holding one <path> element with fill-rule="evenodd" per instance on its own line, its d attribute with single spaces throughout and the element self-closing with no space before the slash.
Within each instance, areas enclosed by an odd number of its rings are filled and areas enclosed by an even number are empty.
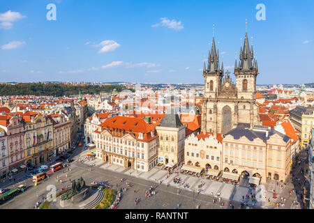
<svg viewBox="0 0 314 223">
<path fill-rule="evenodd" d="M 105 180 L 105 182 L 110 183 L 116 190 L 126 187 L 126 182 L 128 182 L 131 187 L 126 192 L 122 192 L 122 199 L 117 208 L 172 209 L 178 204 L 179 208 L 196 208 L 197 206 L 200 206 L 200 208 L 230 208 L 230 201 L 234 204 L 234 208 L 241 208 L 240 202 L 242 201 L 242 197 L 246 194 L 251 194 L 251 192 L 258 196 L 259 189 L 262 187 L 250 189 L 247 179 L 242 179 L 240 185 L 234 186 L 216 180 L 186 176 L 184 174 L 171 174 L 167 177 L 167 171 L 158 167 L 145 173 L 124 169 L 123 167 L 103 163 L 99 160 L 88 160 L 84 163 L 77 162 L 80 157 L 82 158 L 86 155 L 85 153 L 87 152 L 82 151 L 82 148 L 75 153 L 75 162 L 70 164 L 71 171 L 64 169 L 67 172 L 63 173 L 63 171 L 59 171 L 51 174 L 49 179 L 43 180 L 37 186 L 33 186 L 31 179 L 26 180 L 24 183 L 31 186 L 29 190 L 7 201 L 0 208 L 33 208 L 35 203 L 42 201 L 41 197 L 45 197 L 47 194 L 47 185 L 56 185 L 57 191 L 59 191 L 61 187 L 70 185 L 70 179 L 80 178 L 81 176 L 87 184 L 92 181 Z M 94 164 L 95 167 L 91 167 L 91 164 Z M 298 167 L 295 171 L 299 171 L 299 168 L 301 167 Z M 88 169 L 91 169 L 91 171 L 88 171 Z M 63 179 L 65 183 L 57 183 L 57 176 Z M 183 185 L 175 184 L 173 182 L 175 176 L 179 176 L 190 187 L 186 189 Z M 122 183 L 120 182 L 121 178 L 124 178 Z M 162 180 L 163 183 L 159 184 L 158 180 Z M 204 186 L 198 192 L 198 185 L 201 182 L 204 183 Z M 170 185 L 167 186 L 167 183 Z M 156 186 L 156 195 L 145 197 L 145 191 L 153 185 Z M 267 201 L 269 197 L 272 197 L 271 190 L 276 190 L 279 194 L 278 199 L 281 197 L 287 198 L 285 208 L 298 208 L 297 206 L 292 206 L 295 194 L 288 195 L 290 187 L 293 187 L 292 183 L 287 183 L 287 185 L 281 187 L 280 184 L 277 185 L 276 182 L 269 181 L 265 185 L 266 194 L 260 193 L 261 198 L 266 196 L 266 198 L 264 197 L 266 202 L 257 202 L 256 208 L 274 208 Z M 220 207 L 218 203 L 218 192 L 220 193 L 221 201 L 225 203 L 223 207 Z M 216 198 L 216 203 L 213 203 L 214 197 Z M 135 198 L 139 199 L 137 205 L 135 205 Z M 252 203 L 248 201 L 248 205 L 252 206 Z"/>
</svg>

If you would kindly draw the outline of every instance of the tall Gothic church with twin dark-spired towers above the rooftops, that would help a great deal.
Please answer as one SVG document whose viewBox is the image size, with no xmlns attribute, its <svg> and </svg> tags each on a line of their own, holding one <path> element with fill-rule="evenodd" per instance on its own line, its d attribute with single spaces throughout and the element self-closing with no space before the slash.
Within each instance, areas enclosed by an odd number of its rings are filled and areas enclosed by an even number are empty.
<svg viewBox="0 0 314 223">
<path fill-rule="evenodd" d="M 246 33 L 244 46 L 240 49 L 239 63 L 234 65 L 235 83 L 230 72 L 220 67 L 219 51 L 215 40 L 209 51 L 208 63 L 204 62 L 204 105 L 202 108 L 202 132 L 227 133 L 241 125 L 253 128 L 260 125 L 256 104 L 257 61 L 253 59 L 253 46 L 248 44 Z"/>
</svg>

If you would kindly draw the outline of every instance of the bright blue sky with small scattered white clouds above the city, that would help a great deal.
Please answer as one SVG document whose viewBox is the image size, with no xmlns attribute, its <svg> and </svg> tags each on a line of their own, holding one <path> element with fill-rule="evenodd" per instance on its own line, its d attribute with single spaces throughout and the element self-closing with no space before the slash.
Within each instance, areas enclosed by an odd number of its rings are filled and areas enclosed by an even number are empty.
<svg viewBox="0 0 314 223">
<path fill-rule="evenodd" d="M 48 3 L 56 21 L 46 19 Z M 202 83 L 213 24 L 233 73 L 246 19 L 257 84 L 314 82 L 313 10 L 312 0 L 1 1 L 0 82 Z"/>
</svg>

